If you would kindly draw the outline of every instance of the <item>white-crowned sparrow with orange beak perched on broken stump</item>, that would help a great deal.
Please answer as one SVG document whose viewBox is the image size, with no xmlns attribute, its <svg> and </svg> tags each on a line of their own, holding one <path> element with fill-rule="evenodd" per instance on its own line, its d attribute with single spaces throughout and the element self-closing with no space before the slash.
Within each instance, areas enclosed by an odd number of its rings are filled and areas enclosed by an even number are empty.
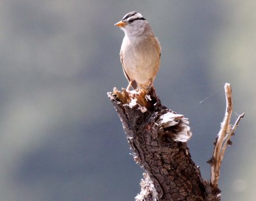
<svg viewBox="0 0 256 201">
<path fill-rule="evenodd" d="M 148 90 L 153 86 L 159 70 L 161 47 L 159 41 L 141 13 L 132 11 L 115 24 L 124 33 L 120 59 L 129 85 Z"/>
</svg>

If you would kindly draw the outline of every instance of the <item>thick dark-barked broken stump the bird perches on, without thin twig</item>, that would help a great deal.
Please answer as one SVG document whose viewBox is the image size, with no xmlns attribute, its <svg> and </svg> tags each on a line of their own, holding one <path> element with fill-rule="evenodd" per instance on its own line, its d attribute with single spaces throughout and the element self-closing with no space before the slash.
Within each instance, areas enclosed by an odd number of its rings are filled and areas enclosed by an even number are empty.
<svg viewBox="0 0 256 201">
<path fill-rule="evenodd" d="M 151 89 L 108 93 L 136 163 L 145 170 L 136 200 L 220 200 L 220 190 L 205 181 L 186 144 L 188 119 L 164 107 Z"/>
</svg>

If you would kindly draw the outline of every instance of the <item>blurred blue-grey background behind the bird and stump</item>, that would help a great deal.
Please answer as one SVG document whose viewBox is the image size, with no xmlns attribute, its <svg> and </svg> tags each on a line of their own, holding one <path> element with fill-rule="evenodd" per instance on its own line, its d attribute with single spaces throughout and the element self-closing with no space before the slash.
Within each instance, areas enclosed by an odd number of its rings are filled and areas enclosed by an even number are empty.
<svg viewBox="0 0 256 201">
<path fill-rule="evenodd" d="M 246 112 L 221 168 L 223 200 L 253 201 L 256 2 L 0 1 L 0 200 L 133 200 L 140 167 L 107 92 L 127 86 L 113 26 L 140 11 L 162 46 L 154 85 L 189 118 L 205 179 L 232 84 Z M 236 114 L 237 113 L 237 114 Z"/>
</svg>

